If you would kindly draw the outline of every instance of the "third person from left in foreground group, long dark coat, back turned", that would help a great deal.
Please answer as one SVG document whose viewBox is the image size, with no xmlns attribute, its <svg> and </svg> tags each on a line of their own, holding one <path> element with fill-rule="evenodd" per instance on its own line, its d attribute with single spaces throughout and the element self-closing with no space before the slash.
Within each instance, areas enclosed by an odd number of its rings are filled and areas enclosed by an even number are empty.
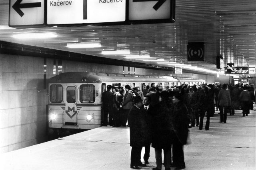
<svg viewBox="0 0 256 170">
<path fill-rule="evenodd" d="M 168 100 L 168 92 L 162 92 L 159 96 L 159 104 L 155 106 L 152 125 L 152 147 L 156 154 L 156 168 L 162 169 L 162 149 L 164 150 L 164 167 L 170 170 L 170 148 L 172 144 L 173 126 L 170 115 L 170 102 Z"/>
</svg>

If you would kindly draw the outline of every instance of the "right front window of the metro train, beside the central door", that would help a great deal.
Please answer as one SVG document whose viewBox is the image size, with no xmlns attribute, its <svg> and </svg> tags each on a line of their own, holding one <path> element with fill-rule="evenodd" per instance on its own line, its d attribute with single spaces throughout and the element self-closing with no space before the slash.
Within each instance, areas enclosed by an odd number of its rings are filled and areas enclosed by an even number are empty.
<svg viewBox="0 0 256 170">
<path fill-rule="evenodd" d="M 94 103 L 95 102 L 95 86 L 86 84 L 80 86 L 80 102 Z"/>
</svg>

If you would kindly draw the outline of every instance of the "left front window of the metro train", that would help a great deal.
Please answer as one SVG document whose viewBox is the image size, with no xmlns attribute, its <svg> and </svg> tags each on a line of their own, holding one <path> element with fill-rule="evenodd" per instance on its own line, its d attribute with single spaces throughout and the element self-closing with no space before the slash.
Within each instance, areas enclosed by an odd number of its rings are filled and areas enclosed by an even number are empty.
<svg viewBox="0 0 256 170">
<path fill-rule="evenodd" d="M 63 87 L 60 84 L 50 86 L 50 102 L 61 103 L 63 100 Z"/>
</svg>

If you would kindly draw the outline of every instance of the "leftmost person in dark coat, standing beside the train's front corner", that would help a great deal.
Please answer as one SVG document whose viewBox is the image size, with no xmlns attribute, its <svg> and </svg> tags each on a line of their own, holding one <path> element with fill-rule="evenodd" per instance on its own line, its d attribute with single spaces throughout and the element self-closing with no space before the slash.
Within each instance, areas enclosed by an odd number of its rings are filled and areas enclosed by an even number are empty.
<svg viewBox="0 0 256 170">
<path fill-rule="evenodd" d="M 103 104 L 103 122 L 102 126 L 108 126 L 108 115 L 109 125 L 114 125 L 113 120 L 113 93 L 111 92 L 111 85 L 107 86 L 107 91 L 102 93 L 102 104 Z"/>
</svg>

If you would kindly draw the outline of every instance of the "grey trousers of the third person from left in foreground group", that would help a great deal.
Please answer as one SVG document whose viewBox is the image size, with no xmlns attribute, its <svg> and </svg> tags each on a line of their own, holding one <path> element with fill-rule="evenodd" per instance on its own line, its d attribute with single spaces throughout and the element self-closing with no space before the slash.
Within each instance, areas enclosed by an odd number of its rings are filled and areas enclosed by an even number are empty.
<svg viewBox="0 0 256 170">
<path fill-rule="evenodd" d="M 156 168 L 162 169 L 162 149 L 155 148 Z M 170 150 L 164 149 L 164 167 L 170 168 Z"/>
</svg>

